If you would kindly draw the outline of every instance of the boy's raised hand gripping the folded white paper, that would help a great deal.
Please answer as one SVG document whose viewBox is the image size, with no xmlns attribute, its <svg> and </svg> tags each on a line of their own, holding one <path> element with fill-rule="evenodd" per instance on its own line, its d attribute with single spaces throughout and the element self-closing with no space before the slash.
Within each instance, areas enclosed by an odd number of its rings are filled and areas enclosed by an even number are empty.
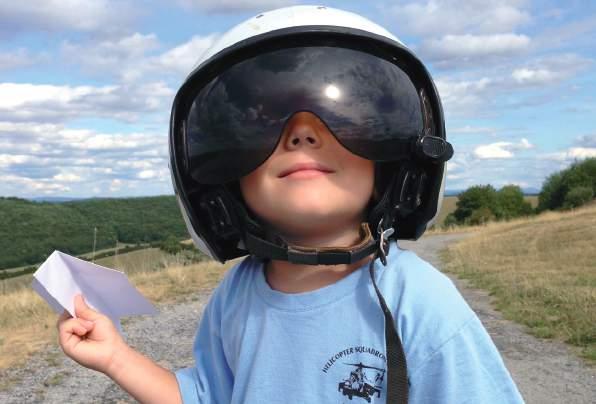
<svg viewBox="0 0 596 404">
<path fill-rule="evenodd" d="M 75 296 L 75 314 L 77 318 L 64 311 L 58 319 L 62 350 L 81 365 L 106 373 L 126 343 L 112 321 L 87 306 L 81 295 Z"/>
</svg>

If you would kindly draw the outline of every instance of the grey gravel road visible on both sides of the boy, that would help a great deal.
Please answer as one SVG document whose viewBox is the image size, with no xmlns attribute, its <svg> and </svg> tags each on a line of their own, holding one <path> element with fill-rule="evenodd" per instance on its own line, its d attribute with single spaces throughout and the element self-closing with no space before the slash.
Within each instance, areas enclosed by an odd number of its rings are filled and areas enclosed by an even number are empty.
<svg viewBox="0 0 596 404">
<path fill-rule="evenodd" d="M 424 237 L 400 242 L 402 248 L 440 268 L 438 252 L 462 235 Z M 490 297 L 465 282 L 454 283 L 476 311 L 501 351 L 507 367 L 527 403 L 595 403 L 596 370 L 588 368 L 561 343 L 542 341 L 523 327 L 504 320 L 490 305 Z M 199 291 L 175 305 L 160 305 L 155 317 L 139 317 L 124 324 L 127 341 L 162 366 L 190 366 L 197 321 L 209 297 Z M 106 376 L 85 369 L 56 345 L 32 358 L 25 366 L 0 371 L 0 403 L 128 403 L 134 402 Z"/>
</svg>

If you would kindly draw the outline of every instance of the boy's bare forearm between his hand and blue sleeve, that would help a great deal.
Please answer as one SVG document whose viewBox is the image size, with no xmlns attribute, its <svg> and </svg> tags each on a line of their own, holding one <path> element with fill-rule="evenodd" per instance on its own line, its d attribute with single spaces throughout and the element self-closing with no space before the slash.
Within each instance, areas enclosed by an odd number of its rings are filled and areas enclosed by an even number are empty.
<svg viewBox="0 0 596 404">
<path fill-rule="evenodd" d="M 126 344 L 105 373 L 141 403 L 182 403 L 174 373 Z"/>
</svg>

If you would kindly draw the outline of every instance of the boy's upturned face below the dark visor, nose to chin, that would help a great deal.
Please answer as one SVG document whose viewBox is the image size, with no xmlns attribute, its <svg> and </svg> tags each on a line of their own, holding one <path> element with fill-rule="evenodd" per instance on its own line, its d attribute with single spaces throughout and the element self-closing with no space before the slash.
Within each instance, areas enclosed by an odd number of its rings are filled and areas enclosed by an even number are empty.
<svg viewBox="0 0 596 404">
<path fill-rule="evenodd" d="M 357 229 L 373 185 L 374 163 L 309 112 L 295 114 L 273 154 L 240 180 L 248 207 L 290 241 Z"/>
</svg>

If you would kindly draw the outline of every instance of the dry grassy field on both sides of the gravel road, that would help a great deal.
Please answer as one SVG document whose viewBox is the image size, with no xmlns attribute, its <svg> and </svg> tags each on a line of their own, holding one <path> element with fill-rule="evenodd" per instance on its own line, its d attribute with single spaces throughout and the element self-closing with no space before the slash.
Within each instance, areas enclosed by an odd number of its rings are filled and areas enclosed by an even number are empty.
<svg viewBox="0 0 596 404">
<path fill-rule="evenodd" d="M 446 198 L 441 214 L 455 201 Z M 489 290 L 506 317 L 535 335 L 574 344 L 596 362 L 596 206 L 466 230 L 474 235 L 445 252 L 447 270 Z M 158 249 L 97 263 L 126 272 L 153 302 L 211 288 L 233 264 L 187 265 Z M 57 315 L 30 284 L 31 275 L 0 281 L 0 368 L 55 343 Z"/>
</svg>

